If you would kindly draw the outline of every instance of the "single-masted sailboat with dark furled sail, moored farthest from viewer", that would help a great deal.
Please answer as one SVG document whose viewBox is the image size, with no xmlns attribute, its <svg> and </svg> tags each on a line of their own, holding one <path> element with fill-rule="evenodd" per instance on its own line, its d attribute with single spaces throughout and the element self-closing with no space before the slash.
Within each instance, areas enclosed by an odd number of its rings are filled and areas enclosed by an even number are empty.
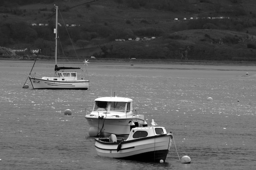
<svg viewBox="0 0 256 170">
<path fill-rule="evenodd" d="M 58 6 L 56 7 L 56 28 L 55 33 L 55 76 L 44 76 L 42 78 L 36 78 L 29 76 L 29 80 L 33 89 L 84 89 L 89 88 L 89 80 L 85 80 L 84 77 L 79 77 L 76 71 L 65 70 L 77 70 L 80 67 L 58 67 L 57 66 L 57 43 L 58 43 Z M 84 61 L 87 65 L 88 60 Z M 33 66 L 34 67 L 34 66 Z M 78 78 L 79 77 L 79 78 Z"/>
</svg>

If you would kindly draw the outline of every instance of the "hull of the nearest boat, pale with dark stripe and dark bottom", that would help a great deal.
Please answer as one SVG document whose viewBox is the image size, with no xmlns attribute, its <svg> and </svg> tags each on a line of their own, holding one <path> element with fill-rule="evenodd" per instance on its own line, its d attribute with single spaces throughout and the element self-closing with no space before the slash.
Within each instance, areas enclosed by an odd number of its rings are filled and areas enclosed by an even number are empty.
<svg viewBox="0 0 256 170">
<path fill-rule="evenodd" d="M 95 139 L 97 154 L 102 157 L 132 159 L 139 161 L 165 161 L 166 155 L 171 149 L 171 133 L 134 139 L 121 142 L 121 148 L 117 151 L 120 142 L 110 143 Z"/>
</svg>

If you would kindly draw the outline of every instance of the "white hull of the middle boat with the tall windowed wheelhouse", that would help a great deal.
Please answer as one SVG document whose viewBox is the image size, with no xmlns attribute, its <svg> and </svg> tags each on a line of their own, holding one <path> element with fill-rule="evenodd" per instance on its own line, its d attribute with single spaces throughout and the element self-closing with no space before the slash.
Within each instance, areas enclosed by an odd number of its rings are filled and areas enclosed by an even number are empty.
<svg viewBox="0 0 256 170">
<path fill-rule="evenodd" d="M 95 132 L 96 135 L 91 136 L 109 136 L 112 133 L 116 135 L 129 135 L 131 121 L 137 121 L 139 127 L 142 127 L 144 122 L 144 115 L 126 118 L 93 118 L 90 115 L 86 115 L 85 118 L 90 126 L 89 133 L 90 131 L 97 131 Z"/>
</svg>

